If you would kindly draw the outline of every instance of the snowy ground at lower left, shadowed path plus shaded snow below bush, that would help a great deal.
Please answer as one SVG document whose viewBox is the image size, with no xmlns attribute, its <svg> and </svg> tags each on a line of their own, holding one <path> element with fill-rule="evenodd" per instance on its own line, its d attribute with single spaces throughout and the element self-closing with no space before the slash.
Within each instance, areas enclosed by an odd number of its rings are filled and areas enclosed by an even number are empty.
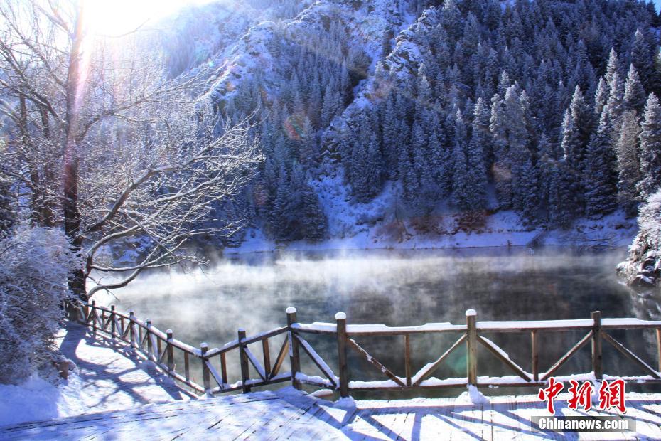
<svg viewBox="0 0 661 441">
<path fill-rule="evenodd" d="M 16 386 L 0 384 L 0 426 L 190 400 L 190 395 L 156 371 L 154 363 L 125 353 L 125 347 L 113 349 L 86 334 L 80 325 L 69 324 L 56 343 L 75 364 L 69 378 L 46 381 L 33 376 Z"/>
</svg>

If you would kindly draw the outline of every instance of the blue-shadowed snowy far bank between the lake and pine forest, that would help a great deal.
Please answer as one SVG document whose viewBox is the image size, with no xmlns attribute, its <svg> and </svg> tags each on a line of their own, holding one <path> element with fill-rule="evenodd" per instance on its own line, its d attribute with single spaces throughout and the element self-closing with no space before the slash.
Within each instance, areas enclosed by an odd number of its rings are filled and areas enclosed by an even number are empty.
<svg viewBox="0 0 661 441">
<path fill-rule="evenodd" d="M 400 189 L 387 183 L 384 191 L 370 203 L 355 203 L 343 184 L 341 170 L 312 180 L 328 218 L 330 238 L 318 243 L 297 241 L 278 244 L 269 240 L 262 230 L 249 230 L 244 242 L 225 253 L 255 253 L 274 250 L 365 250 L 365 249 L 434 249 L 479 248 L 501 246 L 566 245 L 623 247 L 632 242 L 638 227 L 635 219 L 627 219 L 616 211 L 601 219 L 579 219 L 568 230 L 527 228 L 514 211 L 497 211 L 487 216 L 485 225 L 477 231 L 457 227 L 456 213 L 441 206 L 426 218 L 403 218 Z M 427 226 L 425 233 L 417 225 Z"/>
</svg>

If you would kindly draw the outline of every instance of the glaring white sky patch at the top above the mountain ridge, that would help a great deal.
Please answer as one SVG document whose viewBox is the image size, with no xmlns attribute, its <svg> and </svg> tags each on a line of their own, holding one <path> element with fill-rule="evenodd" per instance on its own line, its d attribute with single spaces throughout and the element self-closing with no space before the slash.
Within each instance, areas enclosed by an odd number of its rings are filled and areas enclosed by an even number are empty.
<svg viewBox="0 0 661 441">
<path fill-rule="evenodd" d="M 184 6 L 210 1 L 213 0 L 87 0 L 87 21 L 93 32 L 116 36 L 133 31 L 145 21 L 146 26 L 153 25 Z"/>
</svg>

